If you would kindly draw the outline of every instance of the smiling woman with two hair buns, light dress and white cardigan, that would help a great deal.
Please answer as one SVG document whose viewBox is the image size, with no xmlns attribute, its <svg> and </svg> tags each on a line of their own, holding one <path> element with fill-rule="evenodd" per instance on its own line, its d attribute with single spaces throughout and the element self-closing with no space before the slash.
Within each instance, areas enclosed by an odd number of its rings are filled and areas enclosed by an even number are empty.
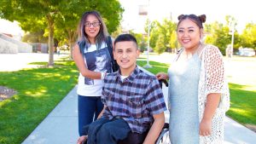
<svg viewBox="0 0 256 144">
<path fill-rule="evenodd" d="M 216 46 L 202 43 L 206 15 L 177 17 L 177 39 L 182 45 L 168 74 L 168 104 L 172 143 L 223 143 L 224 113 L 230 92 L 224 60 Z"/>
</svg>

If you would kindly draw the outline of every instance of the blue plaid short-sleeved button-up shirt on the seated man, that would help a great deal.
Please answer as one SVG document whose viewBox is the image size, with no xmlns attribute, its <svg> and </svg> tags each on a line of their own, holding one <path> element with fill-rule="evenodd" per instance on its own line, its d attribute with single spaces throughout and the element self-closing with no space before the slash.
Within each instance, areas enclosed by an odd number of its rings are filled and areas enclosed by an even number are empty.
<svg viewBox="0 0 256 144">
<path fill-rule="evenodd" d="M 150 128 L 154 114 L 166 111 L 157 78 L 138 67 L 123 81 L 119 71 L 108 74 L 104 79 L 102 102 L 107 106 L 103 118 L 123 118 L 131 131 L 137 133 Z"/>
</svg>

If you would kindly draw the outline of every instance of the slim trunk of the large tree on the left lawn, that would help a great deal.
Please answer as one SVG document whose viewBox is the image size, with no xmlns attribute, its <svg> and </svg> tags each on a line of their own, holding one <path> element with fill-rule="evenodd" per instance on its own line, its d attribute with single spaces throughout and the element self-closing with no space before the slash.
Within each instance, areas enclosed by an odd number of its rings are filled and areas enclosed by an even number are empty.
<svg viewBox="0 0 256 144">
<path fill-rule="evenodd" d="M 54 20 L 50 14 L 47 15 L 48 29 L 49 29 L 49 62 L 48 66 L 54 66 Z"/>
</svg>

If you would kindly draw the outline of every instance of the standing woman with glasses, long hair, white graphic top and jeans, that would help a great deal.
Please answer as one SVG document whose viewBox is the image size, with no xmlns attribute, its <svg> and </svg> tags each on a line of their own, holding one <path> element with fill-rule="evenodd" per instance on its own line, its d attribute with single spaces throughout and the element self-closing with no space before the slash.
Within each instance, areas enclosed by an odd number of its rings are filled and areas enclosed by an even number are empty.
<svg viewBox="0 0 256 144">
<path fill-rule="evenodd" d="M 85 125 L 96 120 L 102 112 L 102 79 L 113 72 L 108 51 L 108 30 L 97 11 L 85 12 L 79 22 L 79 40 L 73 48 L 73 60 L 79 68 L 79 135 Z M 111 43 L 112 44 L 112 43 Z M 96 57 L 101 62 L 96 63 Z M 101 69 L 96 67 L 101 66 Z"/>
</svg>

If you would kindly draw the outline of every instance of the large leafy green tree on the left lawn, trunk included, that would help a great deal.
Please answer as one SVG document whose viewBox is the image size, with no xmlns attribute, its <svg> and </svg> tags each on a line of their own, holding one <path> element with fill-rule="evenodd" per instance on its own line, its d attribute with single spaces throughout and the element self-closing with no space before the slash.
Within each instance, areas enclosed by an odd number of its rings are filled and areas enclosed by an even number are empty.
<svg viewBox="0 0 256 144">
<path fill-rule="evenodd" d="M 123 9 L 118 0 L 1 0 L 0 17 L 20 22 L 26 32 L 40 32 L 49 37 L 49 66 L 54 65 L 53 42 L 75 42 L 77 26 L 81 15 L 88 10 L 97 10 L 106 22 L 108 32 L 114 32 L 119 26 Z"/>
</svg>

